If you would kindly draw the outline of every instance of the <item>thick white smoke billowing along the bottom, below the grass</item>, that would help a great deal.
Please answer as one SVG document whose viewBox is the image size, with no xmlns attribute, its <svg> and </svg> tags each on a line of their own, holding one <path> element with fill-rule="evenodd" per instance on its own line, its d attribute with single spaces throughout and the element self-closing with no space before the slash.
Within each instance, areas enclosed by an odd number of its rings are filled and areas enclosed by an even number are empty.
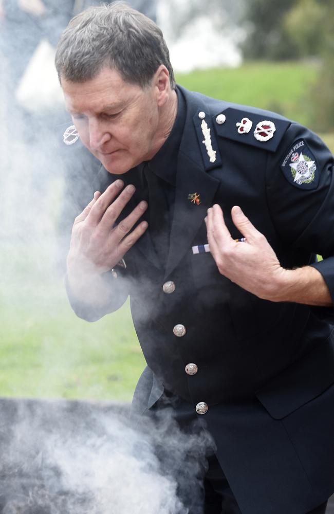
<svg viewBox="0 0 334 514">
<path fill-rule="evenodd" d="M 14 409 L 14 411 L 13 411 Z M 196 514 L 211 439 L 169 409 L 135 430 L 105 406 L 2 405 L 3 514 Z M 179 494 L 182 498 L 179 498 Z"/>
</svg>

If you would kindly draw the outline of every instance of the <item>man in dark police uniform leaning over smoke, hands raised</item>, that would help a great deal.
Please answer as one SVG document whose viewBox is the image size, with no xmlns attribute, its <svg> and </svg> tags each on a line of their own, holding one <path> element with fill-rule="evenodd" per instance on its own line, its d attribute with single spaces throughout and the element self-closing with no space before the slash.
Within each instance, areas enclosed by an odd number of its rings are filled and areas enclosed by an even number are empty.
<svg viewBox="0 0 334 514">
<path fill-rule="evenodd" d="M 279 115 L 176 87 L 161 31 L 124 4 L 73 19 L 56 66 L 64 141 L 94 156 L 67 258 L 73 309 L 95 321 L 130 296 L 147 361 L 134 409 L 169 399 L 181 426 L 205 420 L 205 512 L 324 513 L 332 155 Z"/>
</svg>

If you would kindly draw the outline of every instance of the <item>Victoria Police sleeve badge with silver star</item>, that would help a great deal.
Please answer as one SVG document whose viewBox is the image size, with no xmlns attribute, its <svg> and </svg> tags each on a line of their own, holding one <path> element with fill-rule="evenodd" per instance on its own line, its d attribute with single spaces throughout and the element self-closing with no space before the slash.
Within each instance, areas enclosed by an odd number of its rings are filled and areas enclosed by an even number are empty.
<svg viewBox="0 0 334 514">
<path fill-rule="evenodd" d="M 320 169 L 304 139 L 294 141 L 281 163 L 285 178 L 300 189 L 317 189 Z"/>
</svg>

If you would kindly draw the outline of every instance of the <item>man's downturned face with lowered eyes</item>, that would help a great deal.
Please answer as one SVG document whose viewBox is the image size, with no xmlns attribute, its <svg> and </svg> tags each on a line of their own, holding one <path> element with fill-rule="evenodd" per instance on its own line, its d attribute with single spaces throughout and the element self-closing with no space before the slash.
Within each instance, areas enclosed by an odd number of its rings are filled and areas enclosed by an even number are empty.
<svg viewBox="0 0 334 514">
<path fill-rule="evenodd" d="M 154 82 L 142 89 L 110 68 L 83 83 L 61 82 L 80 139 L 107 171 L 125 173 L 154 156 L 159 122 Z"/>
</svg>

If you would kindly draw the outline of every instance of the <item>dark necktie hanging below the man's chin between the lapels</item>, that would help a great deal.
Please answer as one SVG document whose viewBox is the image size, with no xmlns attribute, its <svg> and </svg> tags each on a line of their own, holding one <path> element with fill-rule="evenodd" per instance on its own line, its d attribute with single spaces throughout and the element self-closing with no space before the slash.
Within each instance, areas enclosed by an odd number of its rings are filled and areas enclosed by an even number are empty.
<svg viewBox="0 0 334 514">
<path fill-rule="evenodd" d="M 150 169 L 147 162 L 143 172 L 149 190 L 149 231 L 158 257 L 165 265 L 170 235 L 169 207 L 165 193 L 167 184 Z"/>
</svg>

